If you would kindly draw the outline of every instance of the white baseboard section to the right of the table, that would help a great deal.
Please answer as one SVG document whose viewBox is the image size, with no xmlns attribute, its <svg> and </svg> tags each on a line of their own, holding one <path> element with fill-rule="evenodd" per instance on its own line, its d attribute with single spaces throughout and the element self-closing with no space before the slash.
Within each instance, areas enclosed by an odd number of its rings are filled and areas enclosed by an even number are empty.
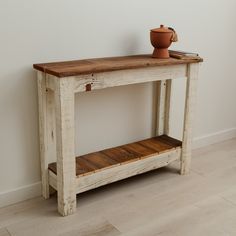
<svg viewBox="0 0 236 236">
<path fill-rule="evenodd" d="M 236 138 L 236 128 L 222 130 L 212 134 L 196 137 L 193 140 L 193 148 L 201 148 L 214 143 L 226 141 L 228 139 Z"/>
</svg>

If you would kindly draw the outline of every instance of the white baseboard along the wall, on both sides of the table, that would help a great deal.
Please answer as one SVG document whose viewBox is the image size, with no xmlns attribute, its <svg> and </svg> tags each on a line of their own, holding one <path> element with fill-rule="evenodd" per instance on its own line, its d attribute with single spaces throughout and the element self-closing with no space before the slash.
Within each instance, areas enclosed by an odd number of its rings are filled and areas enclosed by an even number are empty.
<svg viewBox="0 0 236 236">
<path fill-rule="evenodd" d="M 219 131 L 201 137 L 196 137 L 193 141 L 194 149 L 205 147 L 214 143 L 219 143 L 228 139 L 236 138 L 236 128 Z M 23 186 L 7 192 L 0 193 L 0 207 L 25 201 L 41 195 L 41 182 Z"/>
</svg>

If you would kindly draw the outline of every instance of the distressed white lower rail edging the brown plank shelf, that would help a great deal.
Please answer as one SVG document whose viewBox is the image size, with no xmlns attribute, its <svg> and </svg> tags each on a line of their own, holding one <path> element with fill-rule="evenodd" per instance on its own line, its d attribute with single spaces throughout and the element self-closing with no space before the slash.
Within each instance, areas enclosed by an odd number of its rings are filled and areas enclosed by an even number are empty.
<svg viewBox="0 0 236 236">
<path fill-rule="evenodd" d="M 142 174 L 170 163 L 180 160 L 181 147 L 176 147 L 168 152 L 150 155 L 138 161 L 114 165 L 112 168 L 101 169 L 88 175 L 79 175 L 76 178 L 76 193 L 82 193 L 100 186 L 110 184 L 131 176 Z M 49 170 L 49 183 L 57 190 L 57 175 Z"/>
</svg>

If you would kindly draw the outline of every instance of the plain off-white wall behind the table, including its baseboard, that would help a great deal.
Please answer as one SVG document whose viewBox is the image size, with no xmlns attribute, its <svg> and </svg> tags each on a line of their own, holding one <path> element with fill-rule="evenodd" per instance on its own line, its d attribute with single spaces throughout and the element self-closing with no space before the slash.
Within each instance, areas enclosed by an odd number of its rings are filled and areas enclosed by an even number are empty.
<svg viewBox="0 0 236 236">
<path fill-rule="evenodd" d="M 161 23 L 179 33 L 173 48 L 197 51 L 205 59 L 198 144 L 236 135 L 235 9 L 235 0 L 0 0 L 0 205 L 39 194 L 32 64 L 151 53 L 149 29 Z M 172 110 L 177 136 L 182 85 L 175 86 Z M 77 154 L 151 134 L 151 84 L 80 94 L 76 102 Z"/>
</svg>

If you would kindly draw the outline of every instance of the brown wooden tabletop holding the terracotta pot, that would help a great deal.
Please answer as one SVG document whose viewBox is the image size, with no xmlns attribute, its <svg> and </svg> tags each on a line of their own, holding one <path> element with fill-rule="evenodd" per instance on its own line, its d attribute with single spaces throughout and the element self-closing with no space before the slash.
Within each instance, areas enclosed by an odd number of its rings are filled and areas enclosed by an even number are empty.
<svg viewBox="0 0 236 236">
<path fill-rule="evenodd" d="M 143 67 L 154 67 L 164 65 L 178 65 L 202 62 L 201 58 L 196 59 L 156 59 L 151 55 L 134 55 L 125 57 L 94 58 L 76 61 L 52 62 L 34 64 L 36 70 L 56 77 L 68 77 L 98 72 L 136 69 Z"/>
</svg>

